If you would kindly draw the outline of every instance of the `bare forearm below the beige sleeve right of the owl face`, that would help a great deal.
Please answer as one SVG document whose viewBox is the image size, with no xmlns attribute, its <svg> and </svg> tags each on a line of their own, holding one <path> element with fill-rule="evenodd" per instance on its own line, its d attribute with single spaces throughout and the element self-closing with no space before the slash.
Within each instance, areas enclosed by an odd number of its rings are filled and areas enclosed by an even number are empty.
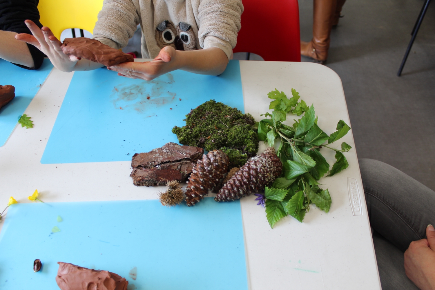
<svg viewBox="0 0 435 290">
<path fill-rule="evenodd" d="M 217 76 L 224 72 L 228 57 L 221 49 L 210 47 L 203 50 L 176 50 L 174 70 Z"/>
</svg>

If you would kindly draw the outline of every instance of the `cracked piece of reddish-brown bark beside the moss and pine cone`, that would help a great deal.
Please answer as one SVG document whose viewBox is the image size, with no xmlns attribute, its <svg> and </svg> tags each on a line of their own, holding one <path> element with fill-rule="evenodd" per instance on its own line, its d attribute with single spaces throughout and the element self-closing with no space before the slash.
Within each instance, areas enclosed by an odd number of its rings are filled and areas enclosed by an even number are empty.
<svg viewBox="0 0 435 290">
<path fill-rule="evenodd" d="M 204 149 L 166 143 L 146 153 L 136 153 L 131 158 L 133 184 L 153 186 L 165 180 L 186 181 Z"/>
</svg>

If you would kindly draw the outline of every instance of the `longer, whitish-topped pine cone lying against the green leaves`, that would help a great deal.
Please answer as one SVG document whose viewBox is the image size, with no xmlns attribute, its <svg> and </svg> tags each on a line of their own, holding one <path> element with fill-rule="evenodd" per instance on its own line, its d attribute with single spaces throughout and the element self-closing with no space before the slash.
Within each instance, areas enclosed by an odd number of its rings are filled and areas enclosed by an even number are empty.
<svg viewBox="0 0 435 290">
<path fill-rule="evenodd" d="M 252 157 L 251 160 L 224 184 L 219 193 L 216 194 L 216 201 L 232 201 L 246 197 L 253 191 L 264 189 L 274 181 L 282 171 L 282 163 L 275 153 L 273 147 L 268 147 L 261 154 Z"/>
</svg>

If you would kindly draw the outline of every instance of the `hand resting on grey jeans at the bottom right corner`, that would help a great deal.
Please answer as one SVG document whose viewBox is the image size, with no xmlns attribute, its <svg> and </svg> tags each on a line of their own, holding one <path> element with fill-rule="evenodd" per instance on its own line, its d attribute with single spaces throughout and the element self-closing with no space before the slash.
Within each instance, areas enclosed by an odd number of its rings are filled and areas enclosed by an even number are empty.
<svg viewBox="0 0 435 290">
<path fill-rule="evenodd" d="M 414 241 L 405 251 L 405 273 L 421 290 L 435 290 L 435 229 L 426 228 L 427 239 Z"/>
</svg>

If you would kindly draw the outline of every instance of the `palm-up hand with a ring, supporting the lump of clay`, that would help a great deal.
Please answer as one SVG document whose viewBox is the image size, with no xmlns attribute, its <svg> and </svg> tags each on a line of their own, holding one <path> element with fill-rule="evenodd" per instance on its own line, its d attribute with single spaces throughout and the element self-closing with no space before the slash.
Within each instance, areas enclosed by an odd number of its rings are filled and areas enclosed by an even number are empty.
<svg viewBox="0 0 435 290">
<path fill-rule="evenodd" d="M 118 72 L 118 76 L 132 79 L 153 80 L 162 74 L 177 70 L 177 51 L 173 47 L 163 47 L 154 60 L 146 62 L 125 62 L 108 67 Z"/>
</svg>

